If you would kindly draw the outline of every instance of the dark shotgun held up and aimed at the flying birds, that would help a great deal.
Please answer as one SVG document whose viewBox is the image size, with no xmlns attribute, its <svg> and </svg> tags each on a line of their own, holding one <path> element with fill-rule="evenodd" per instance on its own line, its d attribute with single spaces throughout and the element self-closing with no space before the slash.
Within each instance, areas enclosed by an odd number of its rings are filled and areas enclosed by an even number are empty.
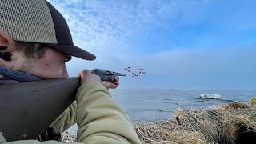
<svg viewBox="0 0 256 144">
<path fill-rule="evenodd" d="M 94 69 L 102 81 L 126 76 Z M 80 78 L 58 78 L 0 85 L 0 132 L 7 142 L 35 139 L 75 100 Z"/>
</svg>

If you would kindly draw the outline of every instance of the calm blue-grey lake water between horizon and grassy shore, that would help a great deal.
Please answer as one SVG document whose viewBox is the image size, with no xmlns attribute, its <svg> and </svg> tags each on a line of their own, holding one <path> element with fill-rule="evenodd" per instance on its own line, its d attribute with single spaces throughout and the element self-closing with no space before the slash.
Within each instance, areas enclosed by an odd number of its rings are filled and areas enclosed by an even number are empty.
<svg viewBox="0 0 256 144">
<path fill-rule="evenodd" d="M 256 90 L 110 90 L 119 106 L 136 122 L 150 122 L 171 118 L 178 108 L 209 109 L 230 102 L 250 102 Z M 202 99 L 200 94 L 220 94 L 218 99 Z M 77 130 L 77 126 L 71 128 Z"/>
</svg>

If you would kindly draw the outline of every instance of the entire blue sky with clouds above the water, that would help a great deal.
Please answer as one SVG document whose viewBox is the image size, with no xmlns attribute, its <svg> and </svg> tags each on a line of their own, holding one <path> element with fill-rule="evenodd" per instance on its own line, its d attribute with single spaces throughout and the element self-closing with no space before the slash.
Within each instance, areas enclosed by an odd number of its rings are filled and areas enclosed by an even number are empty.
<svg viewBox="0 0 256 144">
<path fill-rule="evenodd" d="M 97 56 L 67 62 L 71 77 L 98 68 L 126 74 L 119 89 L 255 90 L 254 0 L 49 2 L 74 44 Z M 146 73 L 131 77 L 138 67 Z"/>
</svg>

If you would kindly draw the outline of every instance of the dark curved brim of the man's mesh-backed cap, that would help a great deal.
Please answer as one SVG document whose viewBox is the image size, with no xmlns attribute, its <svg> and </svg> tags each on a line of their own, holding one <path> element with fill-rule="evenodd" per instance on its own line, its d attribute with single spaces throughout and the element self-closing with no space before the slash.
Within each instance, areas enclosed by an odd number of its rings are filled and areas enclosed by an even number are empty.
<svg viewBox="0 0 256 144">
<path fill-rule="evenodd" d="M 47 46 L 53 47 L 57 50 L 61 50 L 66 54 L 70 54 L 77 58 L 82 58 L 85 60 L 93 61 L 96 59 L 96 56 L 94 54 L 90 54 L 86 50 L 82 50 L 78 46 L 74 45 L 54 45 L 54 44 L 46 44 Z"/>
</svg>

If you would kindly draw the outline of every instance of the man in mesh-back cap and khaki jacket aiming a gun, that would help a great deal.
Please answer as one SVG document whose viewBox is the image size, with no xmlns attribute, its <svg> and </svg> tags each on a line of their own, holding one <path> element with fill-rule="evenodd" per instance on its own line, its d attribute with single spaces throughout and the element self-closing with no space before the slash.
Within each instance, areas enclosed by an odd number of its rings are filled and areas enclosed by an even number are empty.
<svg viewBox="0 0 256 144">
<path fill-rule="evenodd" d="M 86 60 L 96 58 L 74 46 L 62 14 L 44 0 L 0 1 L 0 53 L 10 56 L 9 59 L 2 56 L 0 66 L 39 78 L 68 77 L 65 62 L 70 60 L 70 55 Z M 82 70 L 79 76 L 81 86 L 76 102 L 52 125 L 63 131 L 76 122 L 78 142 L 82 143 L 140 143 L 130 118 L 107 90 L 116 88 L 118 79 L 115 84 L 102 82 L 89 70 Z M 6 140 L 0 133 L 0 143 L 4 142 Z M 22 140 L 10 143 L 41 142 Z"/>
</svg>

